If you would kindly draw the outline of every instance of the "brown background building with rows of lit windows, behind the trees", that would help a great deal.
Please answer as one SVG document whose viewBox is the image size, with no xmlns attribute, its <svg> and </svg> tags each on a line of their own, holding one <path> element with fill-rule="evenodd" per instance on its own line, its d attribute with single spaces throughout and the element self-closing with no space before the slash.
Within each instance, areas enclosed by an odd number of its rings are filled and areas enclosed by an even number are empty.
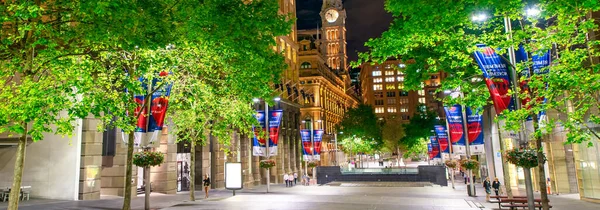
<svg viewBox="0 0 600 210">
<path fill-rule="evenodd" d="M 408 91 L 404 88 L 404 74 L 398 71 L 405 67 L 406 64 L 400 60 L 363 64 L 360 71 L 363 103 L 373 106 L 381 119 L 399 120 L 401 123 L 408 123 L 420 104 L 444 116 L 443 106 L 436 99 L 443 73 L 430 75 L 422 89 Z"/>
</svg>

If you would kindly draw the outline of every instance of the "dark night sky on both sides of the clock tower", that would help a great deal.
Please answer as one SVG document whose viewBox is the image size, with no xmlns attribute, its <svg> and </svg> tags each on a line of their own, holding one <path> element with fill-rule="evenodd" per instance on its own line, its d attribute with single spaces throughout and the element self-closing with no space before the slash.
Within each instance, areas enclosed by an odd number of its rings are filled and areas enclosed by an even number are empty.
<svg viewBox="0 0 600 210">
<path fill-rule="evenodd" d="M 392 21 L 392 16 L 383 8 L 384 0 L 344 0 L 346 8 L 346 38 L 350 61 L 357 59 L 356 51 L 367 50 L 364 43 L 369 38 L 381 36 Z M 298 29 L 316 28 L 321 25 L 319 12 L 323 0 L 297 0 Z"/>
</svg>

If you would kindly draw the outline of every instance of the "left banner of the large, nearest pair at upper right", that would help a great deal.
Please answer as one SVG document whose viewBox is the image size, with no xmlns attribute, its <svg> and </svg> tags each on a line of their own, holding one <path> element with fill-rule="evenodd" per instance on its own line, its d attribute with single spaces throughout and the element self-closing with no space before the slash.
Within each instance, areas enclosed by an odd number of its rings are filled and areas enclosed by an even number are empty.
<svg viewBox="0 0 600 210">
<path fill-rule="evenodd" d="M 506 62 L 496 54 L 494 49 L 484 44 L 477 44 L 477 48 L 479 50 L 475 51 L 475 60 L 483 72 L 485 83 L 494 102 L 496 114 L 502 113 L 505 109 L 514 110 L 514 100 L 508 94 L 511 80 Z"/>
</svg>

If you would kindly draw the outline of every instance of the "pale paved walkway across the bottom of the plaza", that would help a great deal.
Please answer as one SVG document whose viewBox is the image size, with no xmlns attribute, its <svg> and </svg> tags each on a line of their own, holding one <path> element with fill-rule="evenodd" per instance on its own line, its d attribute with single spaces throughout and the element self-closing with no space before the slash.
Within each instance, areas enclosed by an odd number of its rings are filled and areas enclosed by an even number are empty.
<svg viewBox="0 0 600 210">
<path fill-rule="evenodd" d="M 295 186 L 286 188 L 283 185 L 272 185 L 271 192 L 266 193 L 265 186 L 244 189 L 232 196 L 228 190 L 212 190 L 209 199 L 188 201 L 188 194 L 161 195 L 153 194 L 153 209 L 186 210 L 186 209 L 406 209 L 406 210 L 469 210 L 497 209 L 498 205 L 485 202 L 483 188 L 477 184 L 478 197 L 468 197 L 466 186 L 457 183 L 456 189 L 439 187 L 430 184 L 414 183 L 334 183 L 328 186 Z M 539 195 L 538 195 L 539 196 Z M 203 198 L 202 192 L 197 197 Z M 578 199 L 578 195 L 551 196 L 554 210 L 597 210 L 600 204 L 589 203 Z M 133 199 L 134 209 L 143 209 L 144 197 Z M 483 208 L 478 208 L 478 206 Z M 23 210 L 112 210 L 120 209 L 122 198 L 106 198 L 93 201 L 53 201 L 34 199 L 21 203 Z M 6 209 L 6 203 L 0 203 L 0 210 Z"/>
</svg>

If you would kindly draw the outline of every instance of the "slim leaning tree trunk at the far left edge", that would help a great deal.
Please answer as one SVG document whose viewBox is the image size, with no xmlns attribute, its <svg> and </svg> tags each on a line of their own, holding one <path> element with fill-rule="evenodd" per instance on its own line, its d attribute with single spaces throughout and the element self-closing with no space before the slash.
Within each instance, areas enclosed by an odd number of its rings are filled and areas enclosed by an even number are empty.
<svg viewBox="0 0 600 210">
<path fill-rule="evenodd" d="M 13 185 L 10 189 L 8 210 L 19 209 L 19 197 L 21 195 L 21 180 L 23 178 L 23 163 L 25 162 L 25 147 L 27 147 L 27 123 L 23 123 L 25 131 L 19 138 L 17 146 L 17 158 L 15 159 L 15 170 L 13 174 Z"/>
</svg>

